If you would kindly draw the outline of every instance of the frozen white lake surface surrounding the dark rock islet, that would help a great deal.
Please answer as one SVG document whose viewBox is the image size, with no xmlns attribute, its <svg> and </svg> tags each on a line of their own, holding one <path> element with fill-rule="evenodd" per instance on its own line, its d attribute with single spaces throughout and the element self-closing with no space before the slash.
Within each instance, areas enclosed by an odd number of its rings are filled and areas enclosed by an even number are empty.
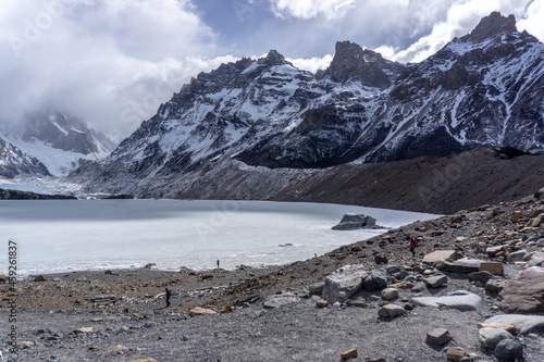
<svg viewBox="0 0 544 362">
<path fill-rule="evenodd" d="M 2 252 L 17 242 L 18 274 L 139 267 L 284 264 L 385 230 L 332 230 L 345 213 L 386 227 L 436 215 L 339 204 L 267 201 L 0 201 Z M 282 246 L 282 245 L 293 246 Z M 5 252 L 4 252 L 5 251 Z M 7 273 L 8 258 L 0 260 Z"/>
</svg>

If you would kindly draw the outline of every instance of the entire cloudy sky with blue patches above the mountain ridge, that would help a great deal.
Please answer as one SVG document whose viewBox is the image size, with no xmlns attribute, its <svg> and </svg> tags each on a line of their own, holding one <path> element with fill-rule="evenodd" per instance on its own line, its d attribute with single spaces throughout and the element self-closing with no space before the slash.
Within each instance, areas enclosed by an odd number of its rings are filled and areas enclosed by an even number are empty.
<svg viewBox="0 0 544 362">
<path fill-rule="evenodd" d="M 492 11 L 544 39 L 544 0 L 1 0 L 0 118 L 47 107 L 121 138 L 223 62 L 316 71 L 337 40 L 419 62 Z"/>
</svg>

